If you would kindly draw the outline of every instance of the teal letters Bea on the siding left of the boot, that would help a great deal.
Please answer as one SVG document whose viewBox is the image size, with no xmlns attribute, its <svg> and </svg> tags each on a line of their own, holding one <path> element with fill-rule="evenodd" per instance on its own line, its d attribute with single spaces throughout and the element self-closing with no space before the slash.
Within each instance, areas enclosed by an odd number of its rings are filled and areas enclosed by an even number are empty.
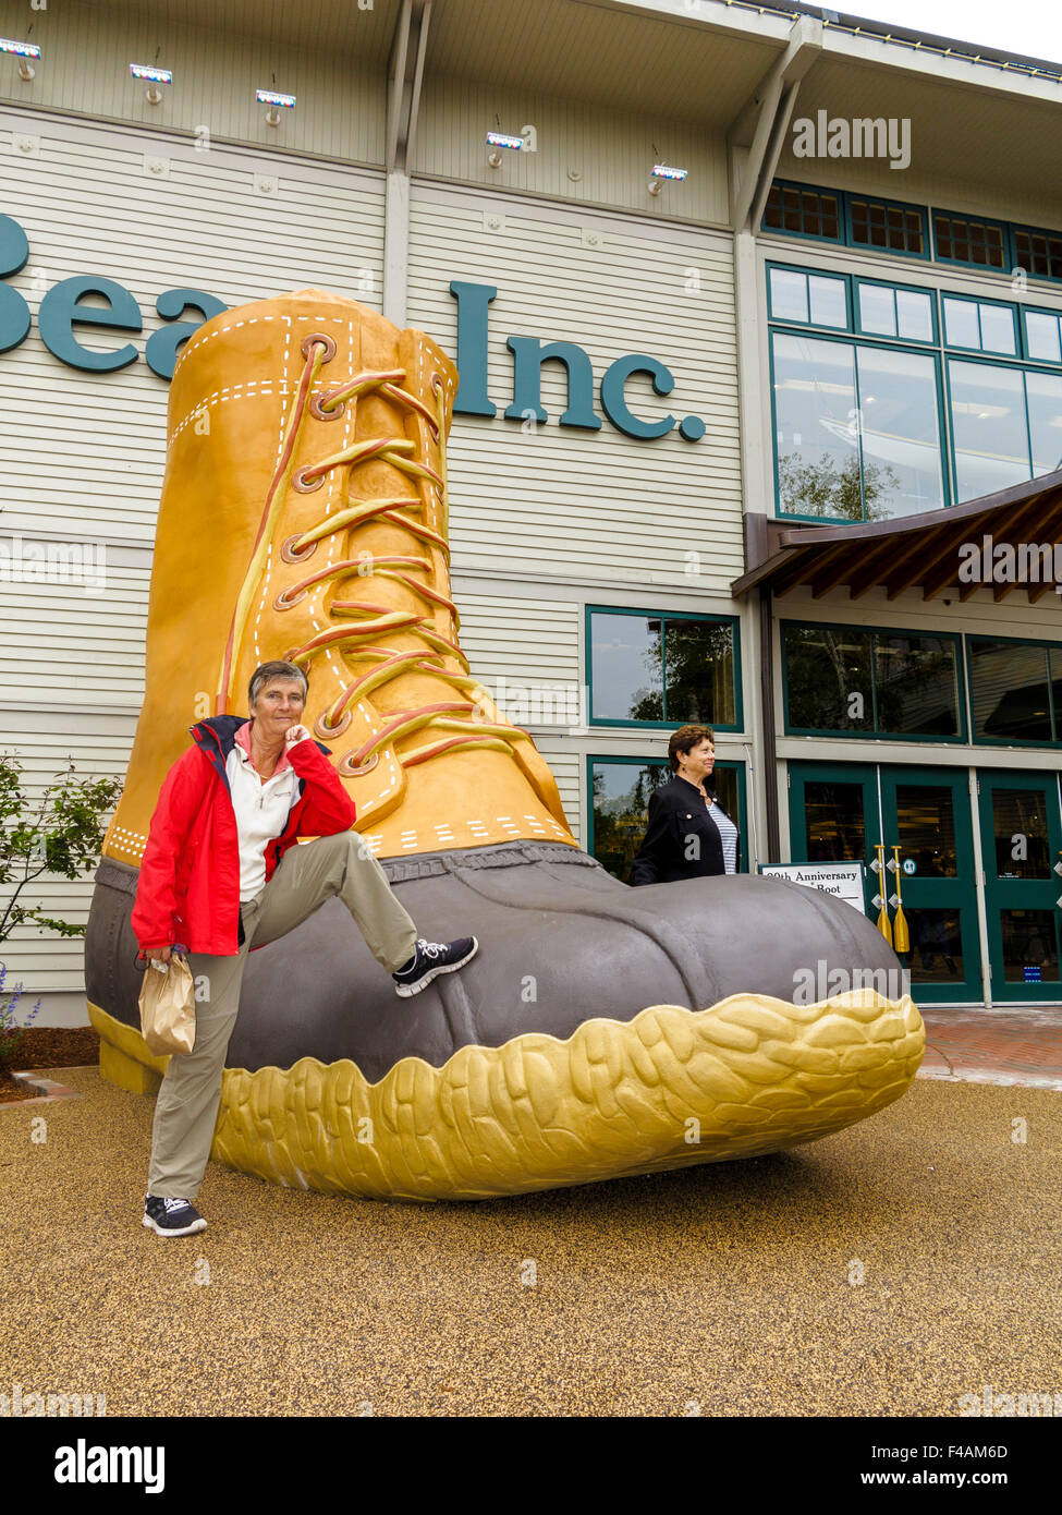
<svg viewBox="0 0 1062 1515">
<path fill-rule="evenodd" d="M 29 238 L 18 221 L 0 215 L 0 279 L 20 273 L 29 261 Z M 105 305 L 85 305 L 86 298 L 103 300 Z M 164 321 L 177 321 L 185 311 L 198 311 L 203 321 L 220 315 L 229 308 L 201 289 L 165 289 L 155 301 L 155 309 Z M 85 368 L 89 373 L 115 373 L 127 368 L 139 358 L 132 342 L 108 353 L 92 351 L 77 341 L 77 326 L 103 326 L 115 332 L 139 332 L 144 329 L 139 306 L 129 289 L 100 274 L 80 274 L 53 285 L 41 300 L 38 312 L 41 341 L 64 364 Z M 177 347 L 191 336 L 201 321 L 180 321 L 153 332 L 144 348 L 147 367 L 159 379 L 173 379 Z M 30 329 L 30 311 L 17 289 L 0 283 L 0 353 L 26 341 Z"/>
</svg>

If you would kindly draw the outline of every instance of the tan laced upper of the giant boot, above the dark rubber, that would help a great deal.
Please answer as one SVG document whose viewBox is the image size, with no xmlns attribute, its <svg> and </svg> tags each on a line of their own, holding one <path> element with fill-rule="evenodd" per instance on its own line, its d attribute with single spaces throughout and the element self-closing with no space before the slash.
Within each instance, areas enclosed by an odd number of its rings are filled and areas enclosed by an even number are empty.
<svg viewBox="0 0 1062 1515">
<path fill-rule="evenodd" d="M 458 644 L 445 438 L 458 371 L 423 332 L 301 289 L 208 321 L 170 391 L 147 689 L 105 853 L 139 864 L 159 788 L 253 670 L 298 662 L 380 856 L 565 841 L 556 782 Z"/>
</svg>

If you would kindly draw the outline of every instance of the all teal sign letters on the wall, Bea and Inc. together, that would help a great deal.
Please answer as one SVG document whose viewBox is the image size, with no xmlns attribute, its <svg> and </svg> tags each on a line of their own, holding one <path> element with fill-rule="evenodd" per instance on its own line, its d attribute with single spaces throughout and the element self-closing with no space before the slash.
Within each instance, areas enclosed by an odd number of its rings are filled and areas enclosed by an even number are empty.
<svg viewBox="0 0 1062 1515">
<path fill-rule="evenodd" d="M 11 279 L 29 262 L 29 238 L 9 215 L 0 215 L 0 280 Z M 497 406 L 486 394 L 486 308 L 497 295 L 494 285 L 451 280 L 450 294 L 458 301 L 458 371 L 461 388 L 454 412 L 462 415 L 497 415 Z M 88 300 L 105 303 L 89 305 Z M 192 332 L 227 309 L 224 301 L 201 289 L 165 289 L 155 301 L 158 315 L 170 323 L 153 332 L 144 347 L 144 361 L 159 379 L 173 379 L 177 350 Z M 194 312 L 201 320 L 180 320 Z M 29 335 L 30 308 L 17 291 L 0 282 L 0 353 L 6 353 Z M 79 326 L 106 327 L 114 332 L 141 332 L 144 327 L 141 309 L 124 285 L 102 274 L 79 274 L 53 285 L 42 297 L 38 311 L 41 341 L 48 351 L 88 373 L 115 373 L 127 368 L 139 358 L 132 342 L 112 351 L 92 351 L 77 339 Z M 98 333 L 95 333 L 98 336 Z M 559 426 L 600 432 L 601 418 L 594 409 L 594 370 L 589 356 L 576 342 L 548 342 L 538 336 L 509 336 L 506 345 L 514 355 L 512 405 L 504 415 L 511 420 L 548 420 L 541 401 L 542 364 L 559 361 L 568 376 L 568 408 L 558 417 Z M 698 415 L 686 415 L 676 421 L 664 415 L 656 421 L 644 421 L 627 403 L 626 385 L 633 374 L 647 376 L 654 394 L 671 394 L 674 377 L 668 368 L 645 353 L 626 353 L 611 364 L 600 382 L 601 411 L 606 418 L 638 441 L 653 441 L 665 436 L 677 426 L 679 435 L 695 442 L 704 435 L 704 423 Z"/>
</svg>

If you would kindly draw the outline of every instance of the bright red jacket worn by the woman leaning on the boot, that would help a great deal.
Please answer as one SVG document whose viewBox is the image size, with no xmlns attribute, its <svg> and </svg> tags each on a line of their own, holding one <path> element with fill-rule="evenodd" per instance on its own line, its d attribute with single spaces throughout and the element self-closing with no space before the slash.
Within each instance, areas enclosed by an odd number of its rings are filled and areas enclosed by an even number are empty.
<svg viewBox="0 0 1062 1515">
<path fill-rule="evenodd" d="M 197 745 L 162 783 L 132 914 L 141 951 L 176 942 L 218 957 L 239 951 L 239 839 L 226 759 L 244 721 L 214 715 L 189 727 Z M 283 832 L 265 847 L 267 880 L 298 836 L 332 836 L 355 824 L 353 800 L 329 759 L 312 739 L 288 751 L 298 794 Z"/>
</svg>

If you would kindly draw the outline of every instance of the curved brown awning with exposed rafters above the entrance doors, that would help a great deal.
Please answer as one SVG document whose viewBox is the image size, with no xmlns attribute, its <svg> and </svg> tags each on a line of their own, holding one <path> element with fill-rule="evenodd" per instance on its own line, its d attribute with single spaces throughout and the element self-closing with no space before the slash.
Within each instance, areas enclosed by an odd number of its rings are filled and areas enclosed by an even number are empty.
<svg viewBox="0 0 1062 1515">
<path fill-rule="evenodd" d="M 970 550 L 960 556 L 964 544 L 979 548 L 976 577 L 970 576 L 974 562 Z M 1000 556 L 1000 545 L 1012 547 L 1014 559 Z M 1050 565 L 1035 551 L 1041 545 L 1051 548 Z M 1035 604 L 1056 586 L 1054 548 L 1060 545 L 1062 470 L 1057 470 L 980 500 L 892 521 L 788 526 L 765 515 L 747 515 L 750 568 L 730 589 L 735 598 L 759 586 L 770 586 L 776 595 L 811 589 L 812 598 L 820 600 L 847 588 L 848 597 L 857 600 L 883 588 L 895 600 L 921 588 L 924 600 L 945 589 L 968 600 L 977 589 L 991 588 L 995 601 L 1023 589 Z M 994 565 L 997 579 L 991 577 Z"/>
</svg>

